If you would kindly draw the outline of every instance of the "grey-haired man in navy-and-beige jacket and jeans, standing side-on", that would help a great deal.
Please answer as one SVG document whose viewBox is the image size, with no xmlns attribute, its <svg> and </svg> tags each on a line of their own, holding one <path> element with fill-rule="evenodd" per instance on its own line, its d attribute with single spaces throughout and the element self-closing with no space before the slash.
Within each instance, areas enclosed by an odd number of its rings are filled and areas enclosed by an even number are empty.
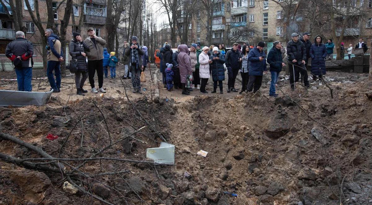
<svg viewBox="0 0 372 205">
<path fill-rule="evenodd" d="M 48 28 L 45 30 L 45 36 L 48 38 L 47 44 L 47 76 L 51 90 L 53 92 L 60 92 L 61 88 L 61 68 L 60 63 L 64 60 L 62 55 L 62 46 L 60 38 L 57 35 L 53 34 L 53 30 Z M 53 76 L 53 70 L 55 75 L 55 80 Z"/>
</svg>

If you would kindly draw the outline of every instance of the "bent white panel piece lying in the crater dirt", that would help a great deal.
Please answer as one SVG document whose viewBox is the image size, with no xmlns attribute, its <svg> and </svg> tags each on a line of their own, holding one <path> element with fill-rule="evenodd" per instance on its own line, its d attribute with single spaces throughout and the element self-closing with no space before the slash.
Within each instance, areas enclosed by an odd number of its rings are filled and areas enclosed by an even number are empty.
<svg viewBox="0 0 372 205">
<path fill-rule="evenodd" d="M 153 159 L 156 163 L 174 164 L 174 149 L 176 146 L 161 142 L 158 148 L 146 149 L 146 157 Z"/>
</svg>

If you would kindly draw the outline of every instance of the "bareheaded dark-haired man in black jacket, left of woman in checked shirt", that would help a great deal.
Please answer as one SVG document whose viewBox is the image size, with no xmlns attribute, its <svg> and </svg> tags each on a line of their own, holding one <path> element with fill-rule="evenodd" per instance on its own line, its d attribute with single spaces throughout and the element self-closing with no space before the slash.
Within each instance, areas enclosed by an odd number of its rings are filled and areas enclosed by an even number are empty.
<svg viewBox="0 0 372 205">
<path fill-rule="evenodd" d="M 228 50 L 225 56 L 225 65 L 229 77 L 227 81 L 227 92 L 238 92 L 238 89 L 235 89 L 235 79 L 239 72 L 239 55 L 240 50 L 238 49 L 238 44 L 234 43 L 232 49 Z"/>
</svg>

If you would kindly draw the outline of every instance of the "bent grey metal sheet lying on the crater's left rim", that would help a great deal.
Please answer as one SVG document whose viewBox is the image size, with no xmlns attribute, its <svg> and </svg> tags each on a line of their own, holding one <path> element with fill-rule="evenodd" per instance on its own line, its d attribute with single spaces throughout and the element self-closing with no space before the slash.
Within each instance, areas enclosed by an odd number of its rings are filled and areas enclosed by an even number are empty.
<svg viewBox="0 0 372 205">
<path fill-rule="evenodd" d="M 49 92 L 26 92 L 0 90 L 0 106 L 22 107 L 26 105 L 44 105 L 53 90 Z"/>
</svg>

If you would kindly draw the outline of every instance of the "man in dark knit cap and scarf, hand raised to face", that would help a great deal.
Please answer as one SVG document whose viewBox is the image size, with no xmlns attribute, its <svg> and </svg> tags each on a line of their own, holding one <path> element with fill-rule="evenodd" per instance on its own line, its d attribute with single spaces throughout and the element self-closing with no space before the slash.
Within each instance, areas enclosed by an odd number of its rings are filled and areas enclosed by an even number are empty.
<svg viewBox="0 0 372 205">
<path fill-rule="evenodd" d="M 138 38 L 132 36 L 132 43 L 130 47 L 125 49 L 124 54 L 129 57 L 129 72 L 132 72 L 132 86 L 133 93 L 141 94 L 140 76 L 144 66 L 142 65 L 142 57 L 145 53 L 138 44 Z M 164 71 L 165 72 L 165 71 Z"/>
</svg>

